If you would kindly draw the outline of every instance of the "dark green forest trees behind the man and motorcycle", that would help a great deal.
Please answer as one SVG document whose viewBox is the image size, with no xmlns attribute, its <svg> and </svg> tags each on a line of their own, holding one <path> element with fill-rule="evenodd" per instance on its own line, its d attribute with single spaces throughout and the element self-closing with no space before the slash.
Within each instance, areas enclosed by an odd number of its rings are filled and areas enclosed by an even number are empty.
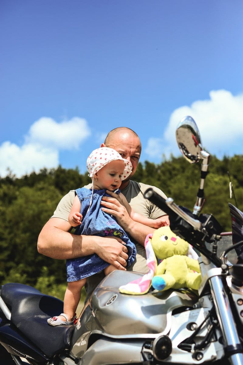
<svg viewBox="0 0 243 365">
<path fill-rule="evenodd" d="M 212 213 L 223 227 L 231 231 L 228 202 L 229 176 L 238 208 L 243 210 L 243 155 L 212 156 L 205 180 L 203 212 Z M 190 210 L 196 201 L 200 184 L 199 164 L 189 164 L 183 157 L 171 156 L 161 164 L 139 163 L 134 180 L 160 188 L 178 205 Z M 37 251 L 40 230 L 53 214 L 64 194 L 90 183 L 78 168 L 42 169 L 39 173 L 16 178 L 11 172 L 0 178 L 0 283 L 32 285 L 43 293 L 63 298 L 66 289 L 66 264 Z"/>
</svg>

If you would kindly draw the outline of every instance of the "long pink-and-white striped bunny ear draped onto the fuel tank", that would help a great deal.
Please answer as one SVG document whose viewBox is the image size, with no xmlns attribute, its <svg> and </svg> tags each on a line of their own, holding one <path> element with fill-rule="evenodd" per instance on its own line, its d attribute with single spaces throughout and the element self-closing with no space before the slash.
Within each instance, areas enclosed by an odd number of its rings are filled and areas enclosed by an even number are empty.
<svg viewBox="0 0 243 365">
<path fill-rule="evenodd" d="M 130 281 L 130 283 L 119 287 L 119 291 L 121 293 L 141 295 L 149 291 L 149 288 L 151 287 L 151 280 L 157 269 L 157 259 L 154 254 L 152 244 L 150 242 L 150 239 L 152 237 L 153 234 L 148 234 L 144 242 L 149 272 L 139 279 Z"/>
</svg>

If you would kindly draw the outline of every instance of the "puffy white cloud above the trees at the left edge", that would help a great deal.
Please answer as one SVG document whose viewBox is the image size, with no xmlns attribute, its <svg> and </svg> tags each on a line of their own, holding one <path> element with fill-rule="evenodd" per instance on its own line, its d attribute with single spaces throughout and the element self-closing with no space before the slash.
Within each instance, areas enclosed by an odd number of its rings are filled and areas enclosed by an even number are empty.
<svg viewBox="0 0 243 365">
<path fill-rule="evenodd" d="M 59 151 L 78 149 L 89 135 L 85 119 L 75 117 L 57 123 L 51 118 L 40 118 L 30 127 L 24 145 L 6 141 L 0 146 L 0 176 L 5 177 L 8 168 L 21 177 L 44 167 L 57 167 Z"/>
</svg>

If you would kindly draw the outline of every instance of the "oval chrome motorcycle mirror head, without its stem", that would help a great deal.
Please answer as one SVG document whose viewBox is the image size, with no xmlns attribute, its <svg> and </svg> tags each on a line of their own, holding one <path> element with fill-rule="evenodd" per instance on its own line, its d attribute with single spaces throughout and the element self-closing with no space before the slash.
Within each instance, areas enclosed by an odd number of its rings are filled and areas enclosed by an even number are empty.
<svg viewBox="0 0 243 365">
<path fill-rule="evenodd" d="M 176 128 L 176 141 L 183 156 L 191 163 L 198 162 L 203 151 L 200 133 L 191 116 L 181 119 Z"/>
</svg>

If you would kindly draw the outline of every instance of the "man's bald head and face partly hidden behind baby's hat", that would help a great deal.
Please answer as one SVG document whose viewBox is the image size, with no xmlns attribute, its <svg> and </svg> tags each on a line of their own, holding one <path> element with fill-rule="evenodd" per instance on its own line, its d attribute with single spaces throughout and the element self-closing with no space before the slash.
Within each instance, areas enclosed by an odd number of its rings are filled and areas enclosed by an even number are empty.
<svg viewBox="0 0 243 365">
<path fill-rule="evenodd" d="M 105 146 L 104 144 L 101 147 Z M 117 132 L 114 137 L 110 140 L 109 145 L 106 147 L 113 148 L 116 150 L 122 158 L 130 161 L 133 165 L 132 173 L 126 180 L 134 175 L 137 169 L 138 161 L 141 154 L 141 142 L 136 136 L 130 135 L 128 132 Z M 126 181 L 124 180 L 124 181 Z"/>
</svg>

